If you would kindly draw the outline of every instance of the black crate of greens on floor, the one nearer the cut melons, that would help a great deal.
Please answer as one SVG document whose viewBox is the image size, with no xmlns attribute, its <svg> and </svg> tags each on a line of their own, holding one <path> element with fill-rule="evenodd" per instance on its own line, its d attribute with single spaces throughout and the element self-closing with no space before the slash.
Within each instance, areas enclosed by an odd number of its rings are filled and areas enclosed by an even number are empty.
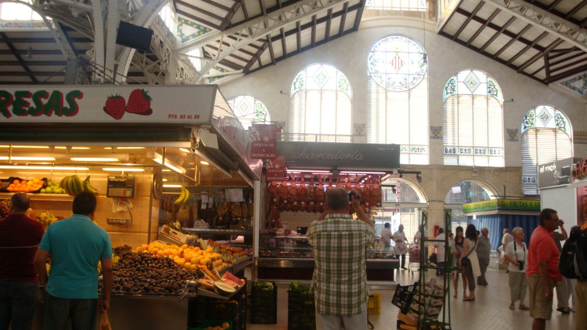
<svg viewBox="0 0 587 330">
<path fill-rule="evenodd" d="M 251 323 L 277 323 L 277 285 L 251 284 Z"/>
</svg>

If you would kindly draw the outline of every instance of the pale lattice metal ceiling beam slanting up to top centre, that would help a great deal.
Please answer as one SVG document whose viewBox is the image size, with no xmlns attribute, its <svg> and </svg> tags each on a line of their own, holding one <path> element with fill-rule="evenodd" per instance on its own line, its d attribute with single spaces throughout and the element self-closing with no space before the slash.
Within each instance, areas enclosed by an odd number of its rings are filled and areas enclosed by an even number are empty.
<svg viewBox="0 0 587 330">
<path fill-rule="evenodd" d="M 302 0 L 289 5 L 286 8 L 271 12 L 266 16 L 242 23 L 241 25 L 235 26 L 227 31 L 207 33 L 203 38 L 198 39 L 193 43 L 189 43 L 188 45 L 184 45 L 178 51 L 181 52 L 183 50 L 193 49 L 211 43 L 222 45 L 223 41 L 231 43 L 230 47 L 225 48 L 224 46 L 220 46 L 219 52 L 213 59 L 204 60 L 204 65 L 192 81 L 193 83 L 198 83 L 203 79 L 204 73 L 208 72 L 208 70 L 210 70 L 221 59 L 224 59 L 226 56 L 230 55 L 230 53 L 235 52 L 235 50 L 238 50 L 242 46 L 246 46 L 248 43 L 264 38 L 268 33 L 278 31 L 288 24 L 298 22 L 313 14 L 330 10 L 334 6 L 348 1 L 349 0 Z M 234 37 L 235 40 L 228 38 L 228 36 Z"/>
</svg>

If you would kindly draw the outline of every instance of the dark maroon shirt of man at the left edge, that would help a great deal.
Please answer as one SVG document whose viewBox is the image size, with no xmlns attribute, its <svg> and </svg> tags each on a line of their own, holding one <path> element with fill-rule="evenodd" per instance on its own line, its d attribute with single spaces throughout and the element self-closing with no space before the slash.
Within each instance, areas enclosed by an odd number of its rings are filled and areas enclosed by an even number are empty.
<svg viewBox="0 0 587 330">
<path fill-rule="evenodd" d="M 0 220 L 0 278 L 38 281 L 35 254 L 43 237 L 43 225 L 25 214 L 10 214 Z"/>
</svg>

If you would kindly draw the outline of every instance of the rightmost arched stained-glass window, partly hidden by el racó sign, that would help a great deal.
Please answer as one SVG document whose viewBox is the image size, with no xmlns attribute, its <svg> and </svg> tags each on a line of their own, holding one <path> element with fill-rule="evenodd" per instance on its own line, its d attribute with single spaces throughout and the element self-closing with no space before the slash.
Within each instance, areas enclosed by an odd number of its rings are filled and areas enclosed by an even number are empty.
<svg viewBox="0 0 587 330">
<path fill-rule="evenodd" d="M 537 166 L 573 156 L 571 123 L 548 105 L 530 109 L 522 120 L 522 192 L 538 194 Z"/>
</svg>

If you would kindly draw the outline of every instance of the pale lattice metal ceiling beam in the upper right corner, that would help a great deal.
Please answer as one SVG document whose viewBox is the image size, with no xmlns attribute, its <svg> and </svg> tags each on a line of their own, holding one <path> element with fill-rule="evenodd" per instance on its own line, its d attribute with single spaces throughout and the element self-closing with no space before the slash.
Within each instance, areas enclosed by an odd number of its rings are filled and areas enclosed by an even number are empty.
<svg viewBox="0 0 587 330">
<path fill-rule="evenodd" d="M 587 30 L 521 0 L 481 0 L 587 51 Z"/>
</svg>

